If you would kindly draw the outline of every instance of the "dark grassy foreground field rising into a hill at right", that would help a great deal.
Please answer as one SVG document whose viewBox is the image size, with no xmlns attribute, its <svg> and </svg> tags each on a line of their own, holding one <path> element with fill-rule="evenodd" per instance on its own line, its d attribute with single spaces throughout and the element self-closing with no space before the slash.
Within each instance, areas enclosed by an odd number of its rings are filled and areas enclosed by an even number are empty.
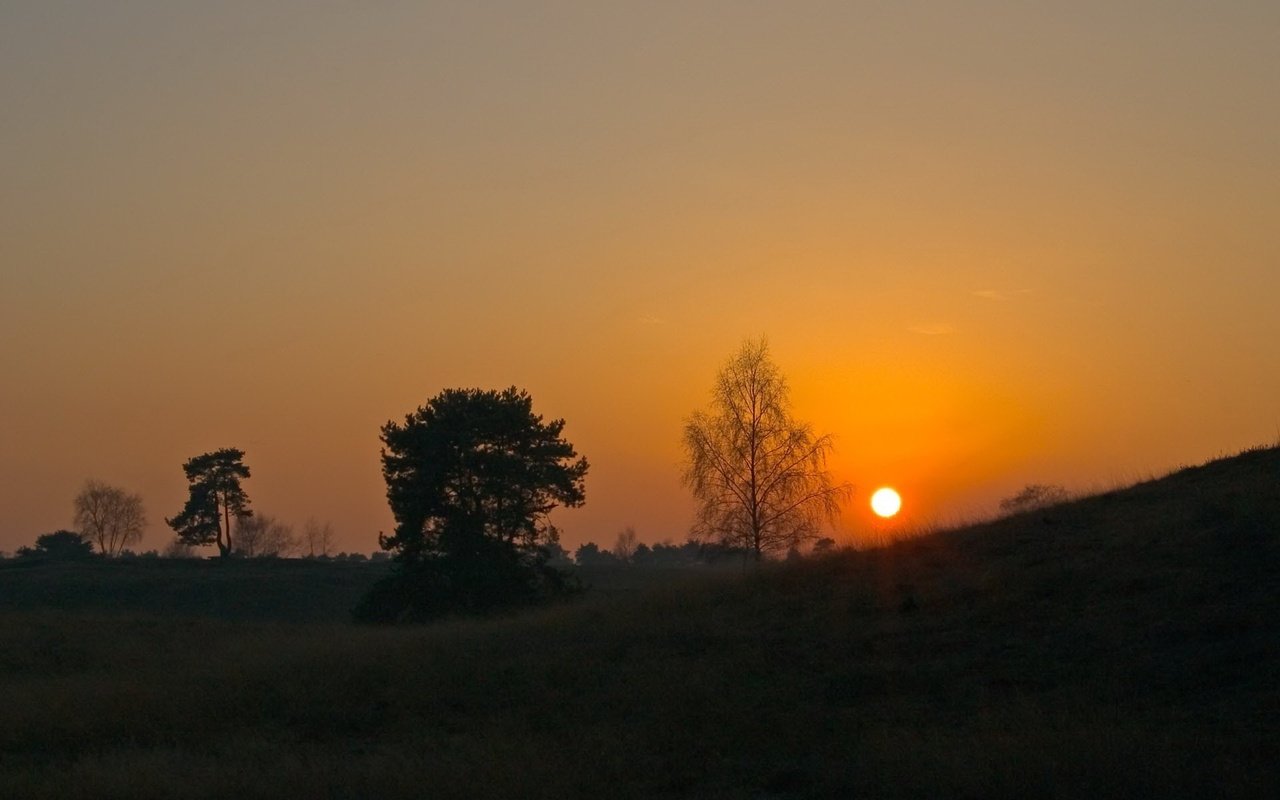
<svg viewBox="0 0 1280 800">
<path fill-rule="evenodd" d="M 326 608 L 353 591 L 300 575 Z M 0 599 L 0 797 L 1280 796 L 1280 451 L 658 575 L 385 630 L 296 599 L 287 622 L 35 611 L 6 567 L 27 599 Z"/>
</svg>

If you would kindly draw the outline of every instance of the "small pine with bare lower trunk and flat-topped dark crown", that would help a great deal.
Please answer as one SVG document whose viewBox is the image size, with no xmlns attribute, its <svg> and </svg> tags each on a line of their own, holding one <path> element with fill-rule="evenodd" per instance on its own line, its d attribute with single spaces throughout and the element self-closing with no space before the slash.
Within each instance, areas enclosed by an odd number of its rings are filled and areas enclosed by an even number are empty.
<svg viewBox="0 0 1280 800">
<path fill-rule="evenodd" d="M 182 465 L 191 494 L 182 512 L 165 522 L 189 547 L 216 544 L 223 558 L 232 554 L 232 517 L 253 515 L 241 480 L 248 477 L 244 451 L 223 448 L 196 456 Z"/>
</svg>

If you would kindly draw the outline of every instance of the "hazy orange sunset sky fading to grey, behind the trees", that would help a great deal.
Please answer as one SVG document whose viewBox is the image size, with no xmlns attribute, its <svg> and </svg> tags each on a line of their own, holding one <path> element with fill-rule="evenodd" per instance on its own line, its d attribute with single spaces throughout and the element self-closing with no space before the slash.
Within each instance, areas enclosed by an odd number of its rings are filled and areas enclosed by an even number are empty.
<svg viewBox="0 0 1280 800">
<path fill-rule="evenodd" d="M 0 550 L 182 462 L 388 530 L 378 429 L 517 385 L 567 544 L 684 538 L 682 420 L 768 335 L 911 524 L 1280 435 L 1274 3 L 0 9 Z"/>
</svg>

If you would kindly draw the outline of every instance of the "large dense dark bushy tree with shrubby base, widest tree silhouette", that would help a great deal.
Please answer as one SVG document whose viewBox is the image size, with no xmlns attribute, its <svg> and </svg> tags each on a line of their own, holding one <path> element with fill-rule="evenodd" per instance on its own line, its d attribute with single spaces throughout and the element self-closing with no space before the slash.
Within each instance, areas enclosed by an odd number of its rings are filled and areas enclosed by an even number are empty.
<svg viewBox="0 0 1280 800">
<path fill-rule="evenodd" d="M 369 622 L 485 612 L 566 594 L 550 567 L 557 506 L 581 506 L 588 463 L 544 422 L 529 393 L 447 389 L 402 425 L 383 426 L 383 476 L 396 532 L 392 575 L 356 609 Z"/>
</svg>

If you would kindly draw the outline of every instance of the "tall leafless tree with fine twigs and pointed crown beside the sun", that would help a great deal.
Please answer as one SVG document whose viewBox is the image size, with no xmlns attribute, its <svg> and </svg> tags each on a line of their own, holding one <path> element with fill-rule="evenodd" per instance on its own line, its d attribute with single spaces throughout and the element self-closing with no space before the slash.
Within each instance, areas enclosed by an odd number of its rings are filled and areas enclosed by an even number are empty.
<svg viewBox="0 0 1280 800">
<path fill-rule="evenodd" d="M 716 379 L 712 411 L 685 425 L 684 480 L 698 499 L 696 535 L 765 553 L 817 538 L 840 513 L 849 484 L 827 472 L 829 435 L 791 416 L 786 380 L 768 344 L 746 342 Z"/>
</svg>

